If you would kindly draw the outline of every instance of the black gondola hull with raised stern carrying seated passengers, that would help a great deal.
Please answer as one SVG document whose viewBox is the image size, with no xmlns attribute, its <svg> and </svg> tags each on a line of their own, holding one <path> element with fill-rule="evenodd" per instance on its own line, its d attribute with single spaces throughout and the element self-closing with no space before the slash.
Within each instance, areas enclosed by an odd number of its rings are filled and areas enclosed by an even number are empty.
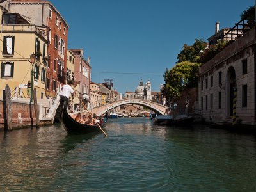
<svg viewBox="0 0 256 192">
<path fill-rule="evenodd" d="M 68 115 L 67 105 L 63 104 L 64 108 L 62 109 L 60 122 L 68 132 L 68 134 L 88 134 L 90 132 L 100 132 L 98 125 L 86 125 L 81 124 L 74 120 L 70 115 Z M 100 127 L 104 129 L 106 127 L 107 116 L 104 116 L 104 123 L 100 124 Z"/>
</svg>

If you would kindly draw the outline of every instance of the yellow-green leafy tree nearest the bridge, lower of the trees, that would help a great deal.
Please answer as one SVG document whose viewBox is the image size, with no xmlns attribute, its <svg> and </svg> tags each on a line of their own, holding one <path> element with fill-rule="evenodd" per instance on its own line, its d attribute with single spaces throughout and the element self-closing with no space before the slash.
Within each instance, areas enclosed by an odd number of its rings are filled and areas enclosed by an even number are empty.
<svg viewBox="0 0 256 192">
<path fill-rule="evenodd" d="M 165 88 L 168 95 L 179 97 L 186 88 L 198 86 L 199 63 L 184 61 L 177 63 L 164 73 Z"/>
</svg>

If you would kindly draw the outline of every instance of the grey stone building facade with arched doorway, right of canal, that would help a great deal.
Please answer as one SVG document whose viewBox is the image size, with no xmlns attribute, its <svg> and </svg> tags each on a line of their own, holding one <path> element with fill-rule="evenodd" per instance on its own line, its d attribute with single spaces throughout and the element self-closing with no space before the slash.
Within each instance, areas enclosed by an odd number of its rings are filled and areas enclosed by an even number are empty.
<svg viewBox="0 0 256 192">
<path fill-rule="evenodd" d="M 255 53 L 253 28 L 200 67 L 199 111 L 205 120 L 256 125 Z"/>
</svg>

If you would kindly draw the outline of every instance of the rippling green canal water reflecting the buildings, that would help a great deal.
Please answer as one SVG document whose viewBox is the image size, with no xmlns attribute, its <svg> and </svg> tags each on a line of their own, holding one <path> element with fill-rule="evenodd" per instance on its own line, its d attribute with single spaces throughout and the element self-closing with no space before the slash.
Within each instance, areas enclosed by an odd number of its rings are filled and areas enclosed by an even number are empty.
<svg viewBox="0 0 256 192">
<path fill-rule="evenodd" d="M 109 120 L 0 132 L 0 191 L 256 191 L 256 138 L 208 127 Z"/>
</svg>

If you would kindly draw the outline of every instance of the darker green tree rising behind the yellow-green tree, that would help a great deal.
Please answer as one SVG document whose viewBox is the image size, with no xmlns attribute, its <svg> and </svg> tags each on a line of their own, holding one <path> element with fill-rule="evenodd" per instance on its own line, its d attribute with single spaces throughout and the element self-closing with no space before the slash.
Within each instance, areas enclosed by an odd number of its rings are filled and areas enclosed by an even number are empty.
<svg viewBox="0 0 256 192">
<path fill-rule="evenodd" d="M 204 51 L 207 43 L 204 42 L 202 38 L 195 39 L 193 45 L 189 46 L 187 44 L 183 45 L 182 51 L 177 56 L 177 63 L 183 61 L 190 61 L 191 63 L 199 63 L 200 62 L 200 51 Z"/>
</svg>

